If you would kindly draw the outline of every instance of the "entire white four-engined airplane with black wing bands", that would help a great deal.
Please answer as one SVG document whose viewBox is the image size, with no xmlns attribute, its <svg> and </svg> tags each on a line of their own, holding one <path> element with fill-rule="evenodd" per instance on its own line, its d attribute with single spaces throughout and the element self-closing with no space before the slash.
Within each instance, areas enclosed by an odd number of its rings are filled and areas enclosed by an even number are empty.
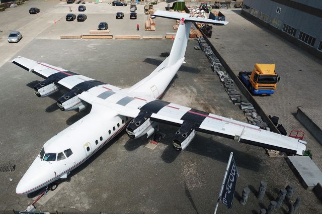
<svg viewBox="0 0 322 214">
<path fill-rule="evenodd" d="M 129 88 L 118 88 L 89 77 L 24 57 L 12 60 L 44 81 L 34 87 L 37 96 L 48 96 L 60 88 L 70 91 L 57 101 L 62 111 L 82 111 L 92 105 L 90 114 L 48 140 L 17 185 L 17 194 L 28 194 L 67 178 L 71 170 L 84 163 L 125 127 L 130 138 L 151 136 L 157 123 L 180 127 L 173 146 L 184 150 L 197 131 L 234 139 L 240 143 L 302 155 L 305 141 L 268 132 L 257 126 L 159 100 L 179 68 L 192 22 L 226 25 L 228 22 L 191 18 L 189 14 L 156 11 L 154 17 L 180 20 L 169 57 L 149 76 Z"/>
</svg>

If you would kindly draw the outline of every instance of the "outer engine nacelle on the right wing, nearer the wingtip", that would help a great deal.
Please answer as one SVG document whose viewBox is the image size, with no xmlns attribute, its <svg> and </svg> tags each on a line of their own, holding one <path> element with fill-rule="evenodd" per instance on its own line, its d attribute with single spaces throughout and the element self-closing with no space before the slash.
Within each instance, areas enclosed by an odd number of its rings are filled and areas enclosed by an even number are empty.
<svg viewBox="0 0 322 214">
<path fill-rule="evenodd" d="M 176 132 L 176 135 L 172 141 L 174 149 L 177 151 L 186 149 L 192 139 L 195 137 L 196 133 L 197 131 L 195 131 L 193 124 L 184 123 Z"/>
</svg>

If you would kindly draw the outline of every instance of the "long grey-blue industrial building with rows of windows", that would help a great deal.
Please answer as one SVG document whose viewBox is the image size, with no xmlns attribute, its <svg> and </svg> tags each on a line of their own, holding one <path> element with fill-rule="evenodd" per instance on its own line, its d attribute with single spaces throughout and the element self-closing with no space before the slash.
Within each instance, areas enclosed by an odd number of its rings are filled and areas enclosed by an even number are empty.
<svg viewBox="0 0 322 214">
<path fill-rule="evenodd" d="M 322 59 L 322 1 L 244 0 L 241 13 Z"/>
</svg>

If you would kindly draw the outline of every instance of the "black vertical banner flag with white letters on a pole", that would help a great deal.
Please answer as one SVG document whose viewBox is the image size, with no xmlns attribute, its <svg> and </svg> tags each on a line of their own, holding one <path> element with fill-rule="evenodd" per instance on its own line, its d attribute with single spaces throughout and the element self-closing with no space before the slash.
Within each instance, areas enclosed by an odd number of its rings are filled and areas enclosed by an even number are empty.
<svg viewBox="0 0 322 214">
<path fill-rule="evenodd" d="M 238 172 L 233 156 L 230 161 L 229 169 L 221 193 L 221 200 L 223 204 L 227 205 L 229 209 L 232 207 L 233 195 L 235 193 L 235 185 Z"/>
</svg>

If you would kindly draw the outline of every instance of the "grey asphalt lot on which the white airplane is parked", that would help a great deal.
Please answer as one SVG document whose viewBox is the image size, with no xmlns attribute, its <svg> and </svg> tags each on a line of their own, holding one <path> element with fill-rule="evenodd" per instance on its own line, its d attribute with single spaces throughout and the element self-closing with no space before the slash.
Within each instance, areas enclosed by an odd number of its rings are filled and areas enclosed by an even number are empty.
<svg viewBox="0 0 322 214">
<path fill-rule="evenodd" d="M 28 9 L 38 4 L 43 5 L 44 10 L 39 7 L 40 14 L 29 15 Z M 129 7 L 116 8 L 104 3 L 85 5 L 88 20 L 82 23 L 66 22 L 64 17 L 69 7 L 74 11 L 76 5 L 59 1 L 30 0 L 1 14 L 9 20 L 25 11 L 28 18 L 22 22 L 13 18 L 13 24 L 8 24 L 11 27 L 1 32 L 0 49 L 7 57 L 0 65 L 1 163 L 11 162 L 16 170 L 0 172 L 0 210 L 23 210 L 33 201 L 31 197 L 15 193 L 20 178 L 44 142 L 89 112 L 61 112 L 56 99 L 63 92 L 37 97 L 32 87 L 42 79 L 9 60 L 24 56 L 125 88 L 147 76 L 165 59 L 164 53 L 171 50 L 173 41 L 165 39 L 59 39 L 62 34 L 88 33 L 101 21 L 108 22 L 113 35 L 174 32 L 173 20 L 157 18 L 155 32 L 136 31 L 137 23 L 143 27 L 146 15 L 139 13 L 135 21 L 126 18 Z M 164 9 L 165 6 L 162 3 L 156 8 Z M 122 10 L 124 13 L 128 10 L 125 18 L 115 20 L 115 13 Z M 22 32 L 21 42 L 8 44 L 6 32 L 11 29 Z M 246 122 L 238 106 L 231 103 L 217 75 L 211 71 L 205 54 L 193 49 L 197 45 L 197 41 L 188 42 L 187 63 L 178 71 L 163 100 Z M 240 177 L 233 208 L 229 210 L 220 204 L 218 213 L 258 213 L 276 198 L 278 188 L 289 184 L 295 186 L 292 201 L 301 196 L 299 213 L 318 213 L 322 208 L 315 195 L 299 184 L 285 160 L 269 158 L 263 148 L 199 133 L 185 151 L 178 153 L 171 145 L 177 128 L 160 125 L 160 131 L 165 138 L 154 150 L 144 147 L 146 139 L 130 140 L 123 131 L 72 171 L 57 190 L 50 191 L 36 203 L 37 211 L 212 213 L 230 152 L 234 153 Z M 262 180 L 268 184 L 267 194 L 263 201 L 258 201 L 254 192 Z M 243 206 L 238 199 L 246 186 L 252 192 Z M 288 206 L 283 203 L 275 213 L 286 213 Z"/>
</svg>

